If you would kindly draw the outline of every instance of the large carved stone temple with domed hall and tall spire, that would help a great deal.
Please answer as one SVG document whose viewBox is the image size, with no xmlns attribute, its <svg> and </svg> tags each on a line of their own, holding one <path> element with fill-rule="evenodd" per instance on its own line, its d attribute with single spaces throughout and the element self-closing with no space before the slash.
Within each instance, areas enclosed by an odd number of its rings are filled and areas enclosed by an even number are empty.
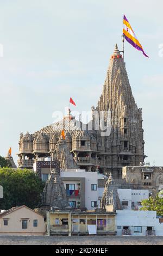
<svg viewBox="0 0 163 256">
<path fill-rule="evenodd" d="M 95 117 L 101 112 L 106 126 L 107 113 L 110 113 L 108 135 L 95 125 Z M 35 161 L 50 156 L 60 162 L 61 169 L 79 168 L 105 175 L 111 172 L 114 179 L 122 179 L 124 166 L 139 166 L 146 157 L 142 121 L 142 109 L 137 108 L 126 66 L 116 45 L 102 95 L 97 107 L 92 107 L 92 129 L 89 124 L 76 120 L 69 111 L 61 121 L 40 131 L 21 133 L 18 166 L 33 168 Z M 62 130 L 65 139 L 61 137 Z"/>
</svg>

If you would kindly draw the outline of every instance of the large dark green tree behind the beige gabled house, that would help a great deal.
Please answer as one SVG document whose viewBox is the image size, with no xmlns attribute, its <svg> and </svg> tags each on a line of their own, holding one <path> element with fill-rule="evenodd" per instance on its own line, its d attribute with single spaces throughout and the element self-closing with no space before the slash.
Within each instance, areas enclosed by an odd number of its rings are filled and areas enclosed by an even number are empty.
<svg viewBox="0 0 163 256">
<path fill-rule="evenodd" d="M 3 186 L 1 209 L 26 205 L 36 208 L 41 202 L 41 193 L 45 184 L 32 170 L 0 168 L 0 185 Z"/>
</svg>

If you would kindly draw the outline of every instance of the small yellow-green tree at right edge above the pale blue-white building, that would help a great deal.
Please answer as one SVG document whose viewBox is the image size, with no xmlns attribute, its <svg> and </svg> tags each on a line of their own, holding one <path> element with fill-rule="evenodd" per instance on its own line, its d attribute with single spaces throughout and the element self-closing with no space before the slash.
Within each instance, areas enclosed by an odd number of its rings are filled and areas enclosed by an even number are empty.
<svg viewBox="0 0 163 256">
<path fill-rule="evenodd" d="M 163 215 L 163 198 L 149 197 L 149 199 L 142 200 L 141 202 L 143 211 L 156 211 L 157 215 Z"/>
</svg>

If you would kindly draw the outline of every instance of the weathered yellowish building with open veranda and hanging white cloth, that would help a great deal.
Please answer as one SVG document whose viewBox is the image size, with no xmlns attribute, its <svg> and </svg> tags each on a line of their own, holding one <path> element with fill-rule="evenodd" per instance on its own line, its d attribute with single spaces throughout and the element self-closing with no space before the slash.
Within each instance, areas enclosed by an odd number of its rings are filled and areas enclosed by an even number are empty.
<svg viewBox="0 0 163 256">
<path fill-rule="evenodd" d="M 49 211 L 47 213 L 47 234 L 116 235 L 115 215 L 115 212 L 102 211 Z"/>
</svg>

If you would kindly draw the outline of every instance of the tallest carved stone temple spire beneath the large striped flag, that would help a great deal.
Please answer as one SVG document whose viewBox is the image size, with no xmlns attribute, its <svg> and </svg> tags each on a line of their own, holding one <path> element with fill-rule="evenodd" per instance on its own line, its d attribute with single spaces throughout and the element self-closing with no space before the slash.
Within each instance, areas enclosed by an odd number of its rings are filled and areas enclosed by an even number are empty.
<svg viewBox="0 0 163 256">
<path fill-rule="evenodd" d="M 104 150 L 99 157 L 103 172 L 122 178 L 123 166 L 139 166 L 145 159 L 142 109 L 137 108 L 122 55 L 115 46 L 110 58 L 103 93 L 97 111 L 111 112 L 111 134 L 101 138 Z"/>
</svg>

